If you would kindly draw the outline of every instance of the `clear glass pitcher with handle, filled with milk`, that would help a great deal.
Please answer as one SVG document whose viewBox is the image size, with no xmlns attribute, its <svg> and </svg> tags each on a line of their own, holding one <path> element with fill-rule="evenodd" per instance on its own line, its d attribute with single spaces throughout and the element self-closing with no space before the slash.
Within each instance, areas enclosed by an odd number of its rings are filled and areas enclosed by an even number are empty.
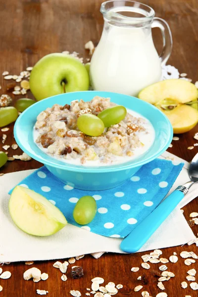
<svg viewBox="0 0 198 297">
<path fill-rule="evenodd" d="M 94 90 L 137 96 L 161 79 L 161 66 L 168 60 L 172 36 L 168 24 L 154 17 L 148 5 L 115 0 L 101 4 L 103 32 L 90 66 Z M 158 56 L 151 28 L 159 27 L 163 49 Z"/>
</svg>

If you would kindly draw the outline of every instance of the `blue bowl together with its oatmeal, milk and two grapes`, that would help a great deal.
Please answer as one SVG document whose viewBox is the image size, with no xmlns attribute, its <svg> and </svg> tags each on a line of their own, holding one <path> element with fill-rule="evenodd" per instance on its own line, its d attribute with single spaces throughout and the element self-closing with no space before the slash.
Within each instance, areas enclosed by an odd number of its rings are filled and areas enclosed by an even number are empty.
<svg viewBox="0 0 198 297">
<path fill-rule="evenodd" d="M 140 99 L 74 92 L 33 104 L 17 119 L 16 142 L 68 186 L 99 191 L 123 183 L 172 140 L 166 116 Z"/>
</svg>

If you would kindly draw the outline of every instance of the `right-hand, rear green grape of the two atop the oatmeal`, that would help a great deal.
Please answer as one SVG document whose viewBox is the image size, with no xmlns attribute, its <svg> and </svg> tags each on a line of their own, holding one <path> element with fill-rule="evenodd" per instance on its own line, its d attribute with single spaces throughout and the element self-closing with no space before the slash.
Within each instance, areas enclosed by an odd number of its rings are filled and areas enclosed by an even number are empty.
<svg viewBox="0 0 198 297">
<path fill-rule="evenodd" d="M 121 122 L 126 114 L 127 110 L 124 106 L 116 105 L 102 110 L 98 114 L 98 117 L 102 120 L 105 127 L 110 127 Z"/>
</svg>

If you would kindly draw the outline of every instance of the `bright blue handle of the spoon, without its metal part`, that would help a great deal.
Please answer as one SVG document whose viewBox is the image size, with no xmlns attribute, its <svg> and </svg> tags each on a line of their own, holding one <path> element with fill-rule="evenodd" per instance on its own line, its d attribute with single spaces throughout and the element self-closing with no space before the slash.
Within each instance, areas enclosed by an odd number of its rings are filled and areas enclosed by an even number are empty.
<svg viewBox="0 0 198 297">
<path fill-rule="evenodd" d="M 122 241 L 120 248 L 125 252 L 138 251 L 183 198 L 184 193 L 179 190 L 171 193 Z"/>
</svg>

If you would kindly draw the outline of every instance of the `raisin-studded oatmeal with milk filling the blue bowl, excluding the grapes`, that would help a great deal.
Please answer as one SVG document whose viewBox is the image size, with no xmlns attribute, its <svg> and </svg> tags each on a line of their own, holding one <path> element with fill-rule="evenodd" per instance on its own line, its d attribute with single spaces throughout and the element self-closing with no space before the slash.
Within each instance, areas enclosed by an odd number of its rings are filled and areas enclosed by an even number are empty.
<svg viewBox="0 0 198 297">
<path fill-rule="evenodd" d="M 34 127 L 35 143 L 50 156 L 74 165 L 104 166 L 127 162 L 145 153 L 154 141 L 151 123 L 133 110 L 116 125 L 104 128 L 91 137 L 77 127 L 77 119 L 85 113 L 98 115 L 115 106 L 109 98 L 91 101 L 74 100 L 64 106 L 54 104 L 42 111 Z"/>
</svg>

